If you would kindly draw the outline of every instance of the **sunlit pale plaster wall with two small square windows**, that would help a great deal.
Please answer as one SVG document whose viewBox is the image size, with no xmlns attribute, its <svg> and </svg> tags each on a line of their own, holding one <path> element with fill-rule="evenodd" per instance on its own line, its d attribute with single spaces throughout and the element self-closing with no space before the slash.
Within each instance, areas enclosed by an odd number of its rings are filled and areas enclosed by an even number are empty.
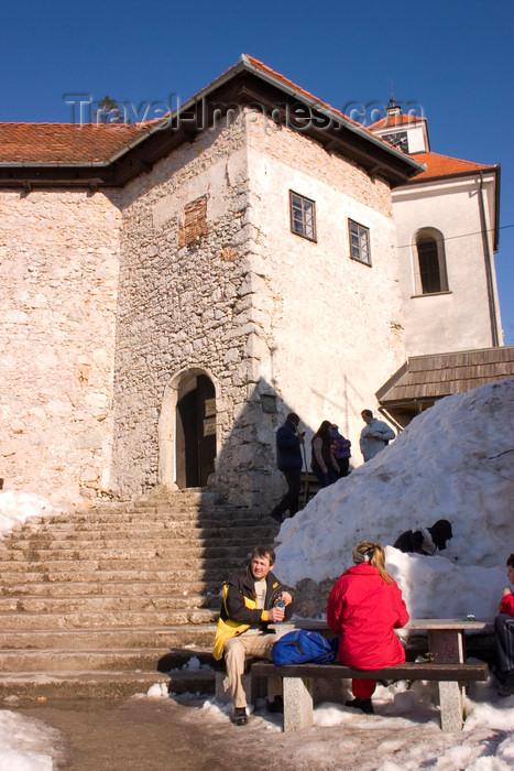
<svg viewBox="0 0 514 771">
<path fill-rule="evenodd" d="M 391 192 L 300 134 L 249 124 L 254 272 L 269 315 L 262 383 L 294 410 L 307 442 L 338 423 L 362 461 L 361 410 L 405 360 Z M 289 189 L 316 203 L 317 242 L 291 232 Z M 370 228 L 372 267 L 349 257 L 348 218 Z M 308 450 L 309 454 L 309 450 Z"/>
</svg>

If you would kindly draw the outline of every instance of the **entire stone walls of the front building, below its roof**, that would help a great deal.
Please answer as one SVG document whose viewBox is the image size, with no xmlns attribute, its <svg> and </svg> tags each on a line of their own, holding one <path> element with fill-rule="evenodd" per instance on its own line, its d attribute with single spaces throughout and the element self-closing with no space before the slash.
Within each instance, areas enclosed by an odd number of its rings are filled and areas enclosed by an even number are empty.
<svg viewBox="0 0 514 771">
<path fill-rule="evenodd" d="M 338 422 L 360 463 L 360 411 L 405 356 L 391 192 L 248 118 L 109 197 L 3 195 L 8 484 L 70 498 L 173 486 L 177 394 L 199 373 L 229 500 L 276 502 L 291 410 L 307 439 Z M 289 191 L 316 202 L 316 242 L 291 232 Z M 349 257 L 349 217 L 370 228 L 371 268 Z"/>
</svg>

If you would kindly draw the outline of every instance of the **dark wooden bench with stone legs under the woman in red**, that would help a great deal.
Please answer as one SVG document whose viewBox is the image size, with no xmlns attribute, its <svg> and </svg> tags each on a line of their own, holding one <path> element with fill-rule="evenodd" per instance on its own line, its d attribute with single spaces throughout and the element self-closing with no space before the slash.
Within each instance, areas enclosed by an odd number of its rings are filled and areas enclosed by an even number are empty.
<svg viewBox="0 0 514 771">
<path fill-rule="evenodd" d="M 462 729 L 462 684 L 488 680 L 486 664 L 417 664 L 404 663 L 383 670 L 352 670 L 342 664 L 291 664 L 276 666 L 258 661 L 252 664 L 254 677 L 282 677 L 284 686 L 284 731 L 313 725 L 313 681 L 326 680 L 429 680 L 439 683 L 440 720 L 444 731 Z"/>
</svg>

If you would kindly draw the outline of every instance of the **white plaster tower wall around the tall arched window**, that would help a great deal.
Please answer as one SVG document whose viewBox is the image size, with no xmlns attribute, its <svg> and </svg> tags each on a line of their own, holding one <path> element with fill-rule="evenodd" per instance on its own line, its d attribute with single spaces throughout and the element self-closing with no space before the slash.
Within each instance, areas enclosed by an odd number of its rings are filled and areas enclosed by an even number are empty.
<svg viewBox="0 0 514 771">
<path fill-rule="evenodd" d="M 494 262 L 491 182 L 485 186 L 485 195 L 490 251 Z M 479 180 L 425 183 L 400 188 L 393 192 L 393 207 L 408 356 L 491 346 Z M 416 295 L 414 270 L 417 252 L 414 240 L 416 232 L 425 227 L 437 228 L 445 237 L 448 293 Z M 494 273 L 493 280 L 495 290 Z M 496 290 L 494 293 L 500 317 Z"/>
</svg>

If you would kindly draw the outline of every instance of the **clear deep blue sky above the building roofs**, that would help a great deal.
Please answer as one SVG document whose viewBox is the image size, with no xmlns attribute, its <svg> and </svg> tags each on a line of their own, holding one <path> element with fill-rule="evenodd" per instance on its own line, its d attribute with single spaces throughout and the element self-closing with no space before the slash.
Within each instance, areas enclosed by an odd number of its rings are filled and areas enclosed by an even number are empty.
<svg viewBox="0 0 514 771">
<path fill-rule="evenodd" d="M 496 271 L 514 344 L 513 0 L 2 0 L 0 121 L 70 122 L 64 94 L 181 101 L 248 53 L 342 109 L 416 101 L 431 150 L 502 164 Z"/>
</svg>

